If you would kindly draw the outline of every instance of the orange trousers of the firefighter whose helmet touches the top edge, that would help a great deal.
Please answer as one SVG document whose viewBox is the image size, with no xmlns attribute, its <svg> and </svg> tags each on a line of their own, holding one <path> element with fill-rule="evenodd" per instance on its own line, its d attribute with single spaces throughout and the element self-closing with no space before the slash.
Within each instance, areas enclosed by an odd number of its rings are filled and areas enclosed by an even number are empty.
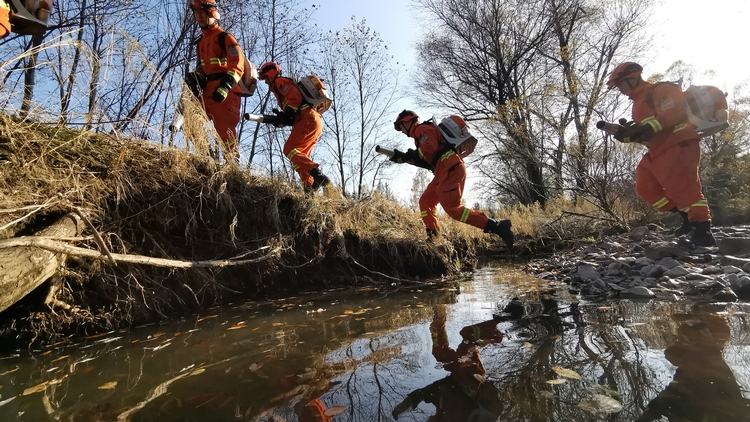
<svg viewBox="0 0 750 422">
<path fill-rule="evenodd" d="M 206 109 L 208 118 L 214 122 L 216 132 L 221 138 L 221 147 L 224 158 L 231 157 L 239 160 L 240 150 L 237 143 L 237 124 L 240 122 L 240 97 L 232 91 L 226 100 L 217 103 L 211 99 L 220 81 L 208 81 L 203 89 L 203 107 Z"/>
</svg>

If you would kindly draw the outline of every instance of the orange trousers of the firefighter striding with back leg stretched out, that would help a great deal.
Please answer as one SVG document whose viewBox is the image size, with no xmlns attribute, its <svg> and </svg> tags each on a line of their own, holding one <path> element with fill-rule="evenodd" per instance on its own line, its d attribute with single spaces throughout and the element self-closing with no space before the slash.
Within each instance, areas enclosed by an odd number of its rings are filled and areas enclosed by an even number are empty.
<svg viewBox="0 0 750 422">
<path fill-rule="evenodd" d="M 442 158 L 435 166 L 435 177 L 419 197 L 419 211 L 425 226 L 440 230 L 437 205 L 454 220 L 484 229 L 487 216 L 464 206 L 463 192 L 466 183 L 466 166 L 456 153 Z"/>
</svg>

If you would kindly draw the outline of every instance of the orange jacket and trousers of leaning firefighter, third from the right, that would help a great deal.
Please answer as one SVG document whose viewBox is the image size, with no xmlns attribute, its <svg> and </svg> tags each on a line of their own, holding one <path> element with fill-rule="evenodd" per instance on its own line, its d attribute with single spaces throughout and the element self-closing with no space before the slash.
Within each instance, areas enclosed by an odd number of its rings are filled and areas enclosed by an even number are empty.
<svg viewBox="0 0 750 422">
<path fill-rule="evenodd" d="M 320 114 L 307 104 L 294 80 L 278 76 L 270 88 L 279 107 L 285 113 L 295 116 L 292 132 L 284 143 L 284 155 L 292 162 L 302 184 L 311 186 L 313 178 L 310 176 L 310 170 L 317 168 L 318 164 L 310 159 L 310 154 L 323 133 L 323 120 Z"/>
</svg>

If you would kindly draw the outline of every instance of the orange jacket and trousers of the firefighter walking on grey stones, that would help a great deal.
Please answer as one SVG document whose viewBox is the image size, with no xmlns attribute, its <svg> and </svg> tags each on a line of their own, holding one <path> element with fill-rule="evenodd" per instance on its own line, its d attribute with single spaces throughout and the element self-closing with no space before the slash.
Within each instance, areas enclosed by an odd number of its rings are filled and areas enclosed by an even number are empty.
<svg viewBox="0 0 750 422">
<path fill-rule="evenodd" d="M 678 208 L 690 221 L 710 220 L 698 176 L 700 137 L 687 123 L 685 94 L 673 84 L 641 81 L 630 98 L 633 121 L 654 130 L 636 169 L 636 193 L 659 211 Z"/>
</svg>

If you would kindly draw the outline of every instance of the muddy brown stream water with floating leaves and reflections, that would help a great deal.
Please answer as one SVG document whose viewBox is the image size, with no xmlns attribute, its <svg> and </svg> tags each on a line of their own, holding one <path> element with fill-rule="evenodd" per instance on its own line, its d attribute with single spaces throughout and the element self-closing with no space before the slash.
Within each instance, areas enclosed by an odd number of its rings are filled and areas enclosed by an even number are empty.
<svg viewBox="0 0 750 422">
<path fill-rule="evenodd" d="M 579 302 L 510 268 L 238 304 L 2 356 L 0 421 L 750 420 L 748 309 Z"/>
</svg>

